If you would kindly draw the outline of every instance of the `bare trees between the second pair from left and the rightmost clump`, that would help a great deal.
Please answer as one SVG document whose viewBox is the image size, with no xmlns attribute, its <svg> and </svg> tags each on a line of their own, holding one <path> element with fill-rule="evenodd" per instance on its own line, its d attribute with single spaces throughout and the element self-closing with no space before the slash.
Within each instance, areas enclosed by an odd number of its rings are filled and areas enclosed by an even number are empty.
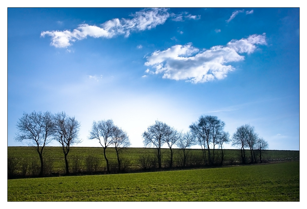
<svg viewBox="0 0 307 209">
<path fill-rule="evenodd" d="M 224 126 L 225 123 L 217 119 L 216 116 L 200 116 L 198 121 L 189 126 L 190 131 L 182 133 L 161 121 L 156 121 L 155 124 L 150 125 L 147 131 L 143 133 L 143 143 L 145 147 L 153 146 L 157 149 L 159 168 L 161 168 L 161 146 L 163 144 L 167 144 L 171 152 L 170 167 L 172 167 L 173 163 L 173 145 L 177 145 L 183 151 L 184 166 L 186 162 L 186 148 L 196 144 L 202 148 L 206 165 L 217 164 L 215 161 L 216 149 L 220 148 L 222 158 L 219 164 L 222 164 L 224 158 L 223 144 L 230 141 L 229 133 L 223 130 Z"/>
</svg>

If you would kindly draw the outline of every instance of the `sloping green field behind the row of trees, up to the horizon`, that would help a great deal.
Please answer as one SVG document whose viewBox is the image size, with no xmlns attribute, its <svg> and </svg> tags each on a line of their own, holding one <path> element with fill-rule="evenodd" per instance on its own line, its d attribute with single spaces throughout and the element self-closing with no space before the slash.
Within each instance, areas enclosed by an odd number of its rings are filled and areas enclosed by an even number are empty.
<svg viewBox="0 0 307 209">
<path fill-rule="evenodd" d="M 117 158 L 115 149 L 113 147 L 108 147 L 107 150 L 107 158 L 110 161 L 110 164 L 116 164 Z M 178 159 L 181 155 L 181 150 L 173 149 L 174 152 L 174 166 L 178 166 Z M 31 164 L 33 160 L 39 161 L 39 157 L 37 151 L 34 147 L 7 147 L 8 156 L 14 157 L 16 160 L 20 162 L 27 162 Z M 166 167 L 168 165 L 168 160 L 170 156 L 169 149 L 163 148 L 161 150 L 162 153 L 162 163 Z M 202 155 L 201 149 L 191 149 L 190 153 L 195 156 Z M 124 159 L 129 160 L 130 169 L 139 169 L 138 167 L 138 159 L 142 155 L 155 155 L 156 149 L 154 148 L 126 148 L 121 156 Z M 99 159 L 99 169 L 105 170 L 106 162 L 103 156 L 103 148 L 102 147 L 71 147 L 71 151 L 68 154 L 68 160 L 71 159 L 79 159 L 81 164 L 84 166 L 85 158 L 88 155 L 93 155 Z M 247 159 L 249 158 L 249 152 L 246 151 Z M 65 171 L 65 163 L 64 163 L 64 154 L 61 150 L 61 147 L 45 147 L 45 157 L 52 159 L 52 172 L 55 173 L 64 173 Z M 281 162 L 281 161 L 299 161 L 300 152 L 299 151 L 284 151 L 284 150 L 265 150 L 263 151 L 262 158 L 266 162 Z M 235 149 L 227 149 L 225 150 L 224 162 L 225 164 L 235 164 L 240 160 L 240 150 Z M 21 172 L 21 169 L 19 169 Z"/>
</svg>

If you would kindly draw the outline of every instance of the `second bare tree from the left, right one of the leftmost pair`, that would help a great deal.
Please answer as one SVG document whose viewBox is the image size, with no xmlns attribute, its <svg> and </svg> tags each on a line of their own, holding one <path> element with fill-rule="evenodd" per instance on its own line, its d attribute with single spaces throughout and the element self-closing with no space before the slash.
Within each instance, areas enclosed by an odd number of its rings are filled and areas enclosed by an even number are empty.
<svg viewBox="0 0 307 209">
<path fill-rule="evenodd" d="M 80 123 L 75 119 L 75 117 L 69 117 L 65 112 L 55 114 L 53 136 L 62 146 L 66 174 L 69 174 L 67 155 L 70 151 L 70 146 L 81 142 L 81 140 L 79 140 L 79 129 Z"/>
</svg>

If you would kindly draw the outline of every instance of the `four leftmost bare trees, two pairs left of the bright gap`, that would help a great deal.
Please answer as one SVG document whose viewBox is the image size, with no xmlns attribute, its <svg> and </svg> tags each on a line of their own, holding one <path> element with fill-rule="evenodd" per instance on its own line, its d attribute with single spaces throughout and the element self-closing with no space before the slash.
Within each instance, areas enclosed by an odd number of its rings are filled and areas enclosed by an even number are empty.
<svg viewBox="0 0 307 209">
<path fill-rule="evenodd" d="M 52 140 L 60 143 L 65 159 L 66 174 L 69 174 L 68 153 L 73 144 L 81 142 L 79 139 L 80 123 L 75 117 L 68 116 L 65 112 L 52 114 L 51 112 L 24 113 L 17 122 L 18 133 L 16 141 L 26 140 L 29 146 L 36 147 L 41 162 L 40 176 L 44 174 L 43 151 Z M 130 146 L 130 140 L 125 131 L 114 125 L 112 120 L 94 121 L 89 139 L 98 139 L 103 147 L 103 154 L 107 162 L 107 171 L 110 173 L 109 161 L 106 156 L 106 148 L 115 147 L 118 169 L 121 169 L 119 153 L 125 147 Z"/>
</svg>

